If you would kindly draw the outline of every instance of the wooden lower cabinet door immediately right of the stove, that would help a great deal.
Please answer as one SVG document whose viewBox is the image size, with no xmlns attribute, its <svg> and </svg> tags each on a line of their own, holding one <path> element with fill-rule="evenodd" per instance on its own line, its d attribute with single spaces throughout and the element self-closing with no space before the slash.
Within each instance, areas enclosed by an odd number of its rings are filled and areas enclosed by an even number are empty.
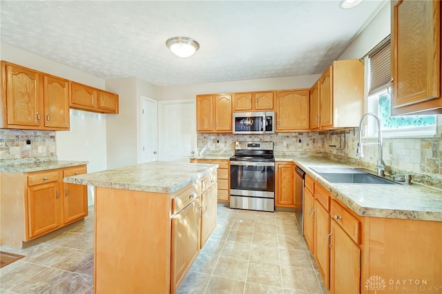
<svg viewBox="0 0 442 294">
<path fill-rule="evenodd" d="M 275 206 L 300 208 L 295 203 L 295 164 L 289 161 L 275 162 Z"/>
</svg>

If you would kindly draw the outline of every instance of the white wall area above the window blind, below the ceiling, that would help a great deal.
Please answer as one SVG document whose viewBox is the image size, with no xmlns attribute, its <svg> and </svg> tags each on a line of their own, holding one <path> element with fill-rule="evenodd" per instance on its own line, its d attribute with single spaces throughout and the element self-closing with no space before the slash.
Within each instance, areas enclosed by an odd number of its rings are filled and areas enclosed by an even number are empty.
<svg viewBox="0 0 442 294">
<path fill-rule="evenodd" d="M 370 21 L 338 59 L 361 58 L 374 46 L 390 35 L 390 1 Z"/>
</svg>

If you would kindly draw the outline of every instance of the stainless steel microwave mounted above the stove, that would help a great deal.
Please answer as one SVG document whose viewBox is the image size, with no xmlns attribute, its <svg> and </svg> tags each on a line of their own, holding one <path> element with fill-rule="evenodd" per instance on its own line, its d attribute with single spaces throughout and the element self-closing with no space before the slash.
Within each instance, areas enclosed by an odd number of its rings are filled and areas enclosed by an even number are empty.
<svg viewBox="0 0 442 294">
<path fill-rule="evenodd" d="M 233 112 L 233 134 L 275 133 L 275 112 Z"/>
</svg>

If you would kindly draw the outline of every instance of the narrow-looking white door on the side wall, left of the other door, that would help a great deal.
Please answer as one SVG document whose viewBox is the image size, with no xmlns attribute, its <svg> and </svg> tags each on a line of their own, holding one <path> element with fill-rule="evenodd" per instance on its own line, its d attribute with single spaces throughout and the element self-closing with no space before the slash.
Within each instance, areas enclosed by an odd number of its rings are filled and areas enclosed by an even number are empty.
<svg viewBox="0 0 442 294">
<path fill-rule="evenodd" d="M 139 164 L 158 160 L 158 104 L 156 100 L 143 97 L 141 99 L 141 156 Z"/>
</svg>

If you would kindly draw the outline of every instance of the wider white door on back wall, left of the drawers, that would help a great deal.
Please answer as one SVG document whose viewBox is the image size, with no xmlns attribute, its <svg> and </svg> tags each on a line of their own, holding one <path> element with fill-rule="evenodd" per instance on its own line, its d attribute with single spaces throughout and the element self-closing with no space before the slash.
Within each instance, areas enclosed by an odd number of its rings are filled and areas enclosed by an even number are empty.
<svg viewBox="0 0 442 294">
<path fill-rule="evenodd" d="M 189 162 L 196 147 L 195 101 L 160 101 L 160 160 Z"/>
</svg>

